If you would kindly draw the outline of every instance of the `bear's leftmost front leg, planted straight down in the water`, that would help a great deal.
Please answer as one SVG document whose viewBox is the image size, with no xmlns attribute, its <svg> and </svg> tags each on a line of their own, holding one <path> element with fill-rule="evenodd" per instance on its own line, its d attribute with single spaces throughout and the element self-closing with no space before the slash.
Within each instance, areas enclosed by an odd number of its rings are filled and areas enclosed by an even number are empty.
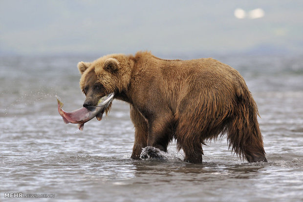
<svg viewBox="0 0 303 202">
<path fill-rule="evenodd" d="M 140 112 L 130 105 L 130 119 L 135 127 L 135 141 L 132 148 L 132 159 L 140 159 L 142 148 L 147 146 L 148 125 Z"/>
</svg>

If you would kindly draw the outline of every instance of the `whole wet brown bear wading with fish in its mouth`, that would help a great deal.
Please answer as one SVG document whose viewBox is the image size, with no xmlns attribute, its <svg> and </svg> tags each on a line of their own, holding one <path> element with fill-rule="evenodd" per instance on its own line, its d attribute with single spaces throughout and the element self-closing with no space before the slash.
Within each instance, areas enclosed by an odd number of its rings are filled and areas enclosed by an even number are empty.
<svg viewBox="0 0 303 202">
<path fill-rule="evenodd" d="M 267 161 L 256 102 L 238 71 L 226 64 L 211 58 L 163 60 L 137 52 L 79 62 L 78 69 L 84 107 L 109 93 L 130 103 L 132 159 L 139 159 L 147 146 L 167 152 L 176 139 L 184 161 L 202 162 L 202 144 L 227 134 L 229 147 L 240 157 Z"/>
</svg>

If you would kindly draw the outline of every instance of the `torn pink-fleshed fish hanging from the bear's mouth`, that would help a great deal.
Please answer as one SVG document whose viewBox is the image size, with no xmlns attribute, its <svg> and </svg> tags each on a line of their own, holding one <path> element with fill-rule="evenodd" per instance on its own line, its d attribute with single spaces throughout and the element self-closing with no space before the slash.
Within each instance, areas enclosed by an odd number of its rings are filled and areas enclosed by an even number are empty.
<svg viewBox="0 0 303 202">
<path fill-rule="evenodd" d="M 97 106 L 89 106 L 87 108 L 82 107 L 72 112 L 65 112 L 63 107 L 63 102 L 60 101 L 60 98 L 56 96 L 58 101 L 58 111 L 59 114 L 62 116 L 63 121 L 65 123 L 78 123 L 79 130 L 83 130 L 84 123 L 90 121 L 94 117 L 97 118 L 98 121 L 101 121 L 102 115 L 105 109 L 108 107 L 110 102 L 113 100 L 114 94 L 110 93 L 104 97 L 102 97 L 99 101 Z"/>
</svg>

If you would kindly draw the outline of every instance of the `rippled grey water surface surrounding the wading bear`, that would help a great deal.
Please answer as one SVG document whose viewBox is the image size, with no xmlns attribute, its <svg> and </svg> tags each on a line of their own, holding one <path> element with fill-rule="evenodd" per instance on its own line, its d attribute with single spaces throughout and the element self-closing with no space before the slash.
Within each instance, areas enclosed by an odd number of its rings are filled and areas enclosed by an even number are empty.
<svg viewBox="0 0 303 202">
<path fill-rule="evenodd" d="M 226 139 L 203 146 L 202 164 L 183 162 L 175 142 L 166 160 L 130 159 L 129 105 L 114 101 L 108 117 L 80 132 L 64 109 L 80 108 L 81 57 L 0 58 L 0 201 L 4 193 L 55 194 L 18 201 L 303 200 L 303 57 L 215 57 L 244 77 L 261 115 L 268 162 L 248 163 Z"/>
</svg>

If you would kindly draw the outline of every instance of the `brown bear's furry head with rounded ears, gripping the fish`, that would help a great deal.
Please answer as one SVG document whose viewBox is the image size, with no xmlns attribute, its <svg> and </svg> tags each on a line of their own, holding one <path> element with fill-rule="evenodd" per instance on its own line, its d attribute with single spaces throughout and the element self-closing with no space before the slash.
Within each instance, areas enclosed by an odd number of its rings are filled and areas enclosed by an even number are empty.
<svg viewBox="0 0 303 202">
<path fill-rule="evenodd" d="M 132 61 L 125 55 L 104 56 L 93 62 L 79 62 L 80 87 L 86 95 L 83 106 L 96 106 L 99 99 L 109 93 L 119 97 L 130 83 Z M 106 112 L 108 112 L 108 109 Z"/>
</svg>

